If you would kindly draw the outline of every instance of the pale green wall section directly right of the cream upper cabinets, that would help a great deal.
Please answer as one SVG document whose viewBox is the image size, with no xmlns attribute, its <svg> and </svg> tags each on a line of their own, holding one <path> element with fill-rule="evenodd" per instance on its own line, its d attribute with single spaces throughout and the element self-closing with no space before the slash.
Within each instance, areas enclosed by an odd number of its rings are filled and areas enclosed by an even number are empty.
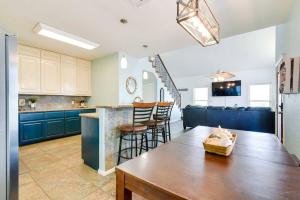
<svg viewBox="0 0 300 200">
<path fill-rule="evenodd" d="M 92 61 L 92 96 L 89 105 L 118 105 L 119 77 L 118 54 Z"/>
</svg>

